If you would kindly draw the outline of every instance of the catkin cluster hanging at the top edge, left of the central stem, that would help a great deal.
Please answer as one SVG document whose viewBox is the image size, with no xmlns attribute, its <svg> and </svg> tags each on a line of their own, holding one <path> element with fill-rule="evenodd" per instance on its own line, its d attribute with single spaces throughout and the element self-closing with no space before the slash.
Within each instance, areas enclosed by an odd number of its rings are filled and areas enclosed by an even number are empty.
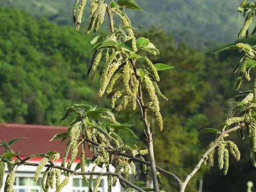
<svg viewBox="0 0 256 192">
<path fill-rule="evenodd" d="M 77 6 L 78 6 L 79 2 L 80 2 L 80 6 L 78 7 L 78 10 L 77 10 Z M 75 0 L 74 1 L 72 13 L 73 13 L 73 21 L 76 24 L 76 30 L 80 29 L 80 25 L 82 22 L 82 16 L 83 16 L 83 10 L 84 10 L 86 2 L 87 2 L 87 0 Z M 107 7 L 107 4 L 104 2 L 104 0 L 91 0 L 91 5 L 90 5 L 91 21 L 86 30 L 86 34 L 91 32 L 93 26 L 94 26 L 93 32 L 98 31 L 99 26 L 104 21 L 106 7 Z"/>
</svg>

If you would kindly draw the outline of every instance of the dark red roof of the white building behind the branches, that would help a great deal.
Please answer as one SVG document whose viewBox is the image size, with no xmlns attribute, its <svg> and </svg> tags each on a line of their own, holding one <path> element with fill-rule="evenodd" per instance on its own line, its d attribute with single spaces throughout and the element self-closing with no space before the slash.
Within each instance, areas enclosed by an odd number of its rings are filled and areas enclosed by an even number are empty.
<svg viewBox="0 0 256 192">
<path fill-rule="evenodd" d="M 58 151 L 60 155 L 64 152 L 67 140 L 60 144 L 60 139 L 49 141 L 57 133 L 67 131 L 67 127 L 26 125 L 26 124 L 0 124 L 0 141 L 13 138 L 24 138 L 12 146 L 12 150 L 21 151 L 21 156 L 29 156 L 35 153 L 47 153 L 47 151 Z M 0 148 L 0 154 L 3 148 Z M 85 156 L 91 157 L 91 152 L 86 148 Z"/>
</svg>

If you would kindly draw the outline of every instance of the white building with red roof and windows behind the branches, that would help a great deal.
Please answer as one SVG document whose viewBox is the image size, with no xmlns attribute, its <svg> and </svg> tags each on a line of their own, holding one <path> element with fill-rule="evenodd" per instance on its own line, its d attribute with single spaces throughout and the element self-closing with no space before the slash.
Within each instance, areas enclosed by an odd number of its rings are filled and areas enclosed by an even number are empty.
<svg viewBox="0 0 256 192">
<path fill-rule="evenodd" d="M 54 126 L 41 126 L 41 125 L 23 125 L 23 124 L 0 124 L 0 141 L 9 141 L 13 138 L 24 138 L 19 142 L 13 144 L 12 149 L 17 152 L 20 152 L 20 157 L 28 157 L 29 155 L 35 153 L 47 153 L 48 151 L 58 151 L 61 153 L 64 151 L 67 141 L 64 141 L 60 144 L 60 140 L 49 141 L 52 136 L 57 133 L 66 132 L 67 127 L 54 127 Z M 0 154 L 3 153 L 3 149 L 0 149 Z M 91 157 L 90 151 L 85 150 L 85 156 Z M 28 162 L 38 163 L 41 158 L 32 159 Z M 54 162 L 55 164 L 60 165 L 62 159 Z M 75 168 L 76 164 L 80 159 L 76 159 L 72 169 Z M 91 170 L 93 164 L 89 165 L 87 170 Z M 33 175 L 36 167 L 33 166 L 19 166 L 16 171 L 15 178 L 15 192 L 43 192 L 43 189 L 39 182 L 35 183 L 33 181 Z M 110 168 L 113 171 L 113 167 Z M 95 170 L 101 171 L 101 168 L 96 168 Z M 106 171 L 106 170 L 105 170 Z M 5 172 L 5 177 L 8 174 L 7 170 Z M 41 176 L 43 172 L 41 173 Z M 61 174 L 61 180 L 65 178 L 63 172 Z M 94 178 L 95 179 L 95 178 Z M 55 191 L 55 189 L 50 189 L 50 191 Z M 62 190 L 63 192 L 88 192 L 88 186 L 83 182 L 81 175 L 74 175 L 70 182 Z M 98 192 L 107 192 L 107 177 L 103 177 Z M 117 185 L 112 188 L 113 192 L 121 192 L 122 189 L 120 184 L 117 182 Z M 4 192 L 2 188 L 0 192 Z"/>
</svg>

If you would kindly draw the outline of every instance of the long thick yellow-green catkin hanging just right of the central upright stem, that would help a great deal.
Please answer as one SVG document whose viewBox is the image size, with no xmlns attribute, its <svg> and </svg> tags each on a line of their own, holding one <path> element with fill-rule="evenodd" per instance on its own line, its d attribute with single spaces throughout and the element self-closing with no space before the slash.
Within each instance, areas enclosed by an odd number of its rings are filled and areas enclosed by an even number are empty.
<svg viewBox="0 0 256 192">
<path fill-rule="evenodd" d="M 148 77 L 148 75 L 145 75 L 144 79 L 145 79 L 146 89 L 148 91 L 150 100 L 153 102 L 152 111 L 156 115 L 156 118 L 158 120 L 159 130 L 162 131 L 163 130 L 163 118 L 160 113 L 160 105 L 159 105 L 158 98 L 156 96 L 154 85 L 153 85 L 151 79 Z"/>
</svg>

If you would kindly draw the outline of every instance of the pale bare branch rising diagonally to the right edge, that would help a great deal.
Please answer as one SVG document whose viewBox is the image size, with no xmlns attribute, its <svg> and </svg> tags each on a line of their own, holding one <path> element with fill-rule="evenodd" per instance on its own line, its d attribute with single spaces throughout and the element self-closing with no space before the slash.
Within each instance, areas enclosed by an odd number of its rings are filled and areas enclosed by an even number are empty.
<svg viewBox="0 0 256 192">
<path fill-rule="evenodd" d="M 244 127 L 245 123 L 242 123 L 236 127 L 233 127 L 231 129 L 228 129 L 226 131 L 223 131 L 219 137 L 215 140 L 215 144 L 213 146 L 211 146 L 210 149 L 208 149 L 204 155 L 202 155 L 202 157 L 200 158 L 199 162 L 197 163 L 197 166 L 195 167 L 195 169 L 193 169 L 193 171 L 187 175 L 185 181 L 182 183 L 181 188 L 180 188 L 180 192 L 185 192 L 185 188 L 187 186 L 187 183 L 189 182 L 189 180 L 195 175 L 195 173 L 198 171 L 198 169 L 200 168 L 200 166 L 202 165 L 202 163 L 204 162 L 204 158 L 212 151 L 214 150 L 217 146 L 218 146 L 218 142 L 221 140 L 221 138 L 223 138 L 224 135 L 231 133 L 233 131 L 236 131 L 237 129 L 240 129 L 241 127 Z"/>
</svg>

